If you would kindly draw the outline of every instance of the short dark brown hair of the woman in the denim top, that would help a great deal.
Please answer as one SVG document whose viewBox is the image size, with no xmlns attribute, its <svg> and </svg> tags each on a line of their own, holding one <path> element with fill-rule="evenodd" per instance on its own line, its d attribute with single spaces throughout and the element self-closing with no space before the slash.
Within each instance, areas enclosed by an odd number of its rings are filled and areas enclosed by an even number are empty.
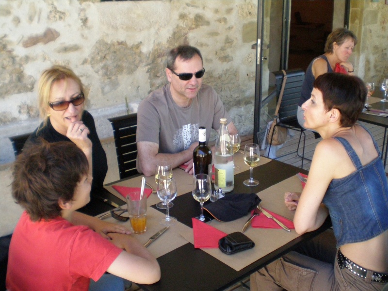
<svg viewBox="0 0 388 291">
<path fill-rule="evenodd" d="M 341 113 L 339 125 L 353 126 L 368 94 L 364 82 L 356 77 L 339 73 L 325 73 L 314 81 L 314 88 L 322 92 L 326 111 L 338 109 Z"/>
</svg>

